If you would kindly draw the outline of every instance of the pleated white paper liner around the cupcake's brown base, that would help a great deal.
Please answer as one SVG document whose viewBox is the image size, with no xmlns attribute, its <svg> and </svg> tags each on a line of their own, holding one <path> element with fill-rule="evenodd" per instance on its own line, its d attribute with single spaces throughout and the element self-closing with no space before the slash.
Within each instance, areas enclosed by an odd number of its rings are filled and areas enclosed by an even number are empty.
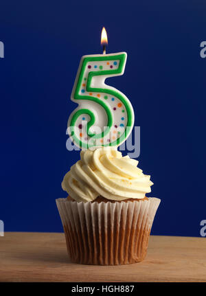
<svg viewBox="0 0 206 296">
<path fill-rule="evenodd" d="M 83 203 L 56 199 L 72 262 L 117 265 L 144 260 L 159 198 Z"/>
</svg>

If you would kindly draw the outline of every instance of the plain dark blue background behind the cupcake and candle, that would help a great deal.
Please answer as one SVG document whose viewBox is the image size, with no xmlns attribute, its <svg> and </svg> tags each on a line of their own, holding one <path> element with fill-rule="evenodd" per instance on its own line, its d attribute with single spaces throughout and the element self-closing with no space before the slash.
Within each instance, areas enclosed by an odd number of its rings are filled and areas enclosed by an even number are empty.
<svg viewBox="0 0 206 296">
<path fill-rule="evenodd" d="M 84 54 L 128 53 L 125 93 L 141 126 L 139 167 L 161 198 L 152 234 L 200 236 L 205 198 L 205 1 L 1 1 L 1 205 L 5 231 L 62 231 L 55 198 Z"/>
</svg>

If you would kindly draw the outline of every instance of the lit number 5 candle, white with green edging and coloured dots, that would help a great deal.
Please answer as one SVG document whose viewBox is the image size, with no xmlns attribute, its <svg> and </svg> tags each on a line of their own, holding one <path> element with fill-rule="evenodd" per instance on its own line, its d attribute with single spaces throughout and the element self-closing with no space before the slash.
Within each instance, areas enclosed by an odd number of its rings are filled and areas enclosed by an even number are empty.
<svg viewBox="0 0 206 296">
<path fill-rule="evenodd" d="M 124 93 L 104 83 L 106 78 L 122 75 L 125 65 L 126 52 L 82 56 L 71 93 L 78 107 L 68 121 L 76 146 L 119 146 L 130 135 L 133 106 Z"/>
</svg>

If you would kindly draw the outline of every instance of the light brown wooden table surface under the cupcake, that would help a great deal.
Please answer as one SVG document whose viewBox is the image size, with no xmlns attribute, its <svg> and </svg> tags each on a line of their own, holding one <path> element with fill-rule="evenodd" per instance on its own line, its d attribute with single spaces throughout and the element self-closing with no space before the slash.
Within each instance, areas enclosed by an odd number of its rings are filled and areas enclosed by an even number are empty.
<svg viewBox="0 0 206 296">
<path fill-rule="evenodd" d="M 64 234 L 5 232 L 0 282 L 206 282 L 206 238 L 150 236 L 143 262 L 91 266 L 69 262 Z"/>
</svg>

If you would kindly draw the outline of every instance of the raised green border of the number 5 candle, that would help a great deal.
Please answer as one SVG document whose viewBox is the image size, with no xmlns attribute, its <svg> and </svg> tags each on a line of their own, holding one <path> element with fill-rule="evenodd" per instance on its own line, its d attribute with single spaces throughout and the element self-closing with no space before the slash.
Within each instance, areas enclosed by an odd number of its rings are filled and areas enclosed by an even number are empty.
<svg viewBox="0 0 206 296">
<path fill-rule="evenodd" d="M 95 122 L 95 115 L 89 109 L 79 109 L 78 111 L 76 111 L 76 113 L 73 114 L 73 116 L 71 118 L 71 122 L 70 122 L 71 137 L 73 138 L 73 141 L 76 144 L 78 144 L 78 146 L 80 146 L 80 148 L 90 148 L 92 146 L 95 146 L 94 144 L 82 142 L 80 139 L 78 139 L 78 137 L 76 137 L 76 135 L 74 133 L 73 128 L 75 128 L 76 120 L 78 119 L 78 117 L 80 115 L 83 115 L 83 114 L 88 114 L 90 117 L 90 121 L 87 122 L 87 135 L 92 137 L 92 139 L 99 139 L 99 138 L 105 137 L 105 135 L 107 135 L 109 133 L 109 131 L 111 130 L 111 126 L 113 126 L 113 115 L 111 113 L 111 109 L 107 106 L 107 104 L 105 104 L 102 100 L 100 100 L 96 97 L 89 96 L 89 95 L 82 95 L 82 94 L 80 95 L 79 93 L 80 93 L 80 88 L 82 86 L 82 82 L 83 82 L 83 78 L 84 78 L 84 72 L 85 72 L 88 62 L 93 62 L 93 61 L 100 62 L 100 61 L 104 61 L 104 60 L 119 60 L 119 67 L 117 69 L 90 71 L 88 74 L 87 85 L 86 85 L 87 91 L 93 91 L 95 93 L 96 92 L 107 93 L 108 95 L 113 95 L 116 98 L 118 98 L 119 101 L 122 102 L 122 104 L 124 104 L 124 106 L 126 108 L 126 112 L 127 112 L 127 123 L 126 123 L 126 129 L 124 130 L 124 133 L 122 133 L 122 135 L 120 137 L 115 139 L 115 141 L 111 141 L 108 144 L 101 145 L 101 146 L 117 146 L 117 145 L 119 145 L 120 142 L 122 142 L 124 139 L 126 139 L 128 134 L 130 133 L 130 130 L 133 128 L 134 116 L 133 116 L 132 106 L 131 106 L 129 100 L 126 98 L 126 96 L 124 98 L 123 93 L 119 93 L 113 89 L 91 87 L 91 80 L 94 76 L 107 76 L 107 78 L 109 78 L 109 76 L 113 77 L 113 74 L 121 75 L 122 71 L 124 69 L 124 66 L 126 64 L 126 53 L 113 54 L 113 55 L 111 54 L 109 56 L 108 55 L 106 55 L 106 56 L 103 56 L 103 55 L 102 56 L 86 56 L 86 57 L 83 56 L 82 59 L 83 59 L 82 60 L 82 67 L 80 68 L 75 91 L 73 93 L 73 100 L 74 101 L 75 100 L 88 100 L 88 101 L 93 101 L 93 102 L 100 104 L 102 106 L 102 108 L 104 108 L 104 110 L 106 111 L 106 114 L 108 116 L 108 122 L 107 122 L 106 130 L 104 130 L 102 133 L 100 133 L 98 135 L 91 134 L 91 133 L 89 133 L 89 128 L 91 128 L 91 126 Z"/>
</svg>

